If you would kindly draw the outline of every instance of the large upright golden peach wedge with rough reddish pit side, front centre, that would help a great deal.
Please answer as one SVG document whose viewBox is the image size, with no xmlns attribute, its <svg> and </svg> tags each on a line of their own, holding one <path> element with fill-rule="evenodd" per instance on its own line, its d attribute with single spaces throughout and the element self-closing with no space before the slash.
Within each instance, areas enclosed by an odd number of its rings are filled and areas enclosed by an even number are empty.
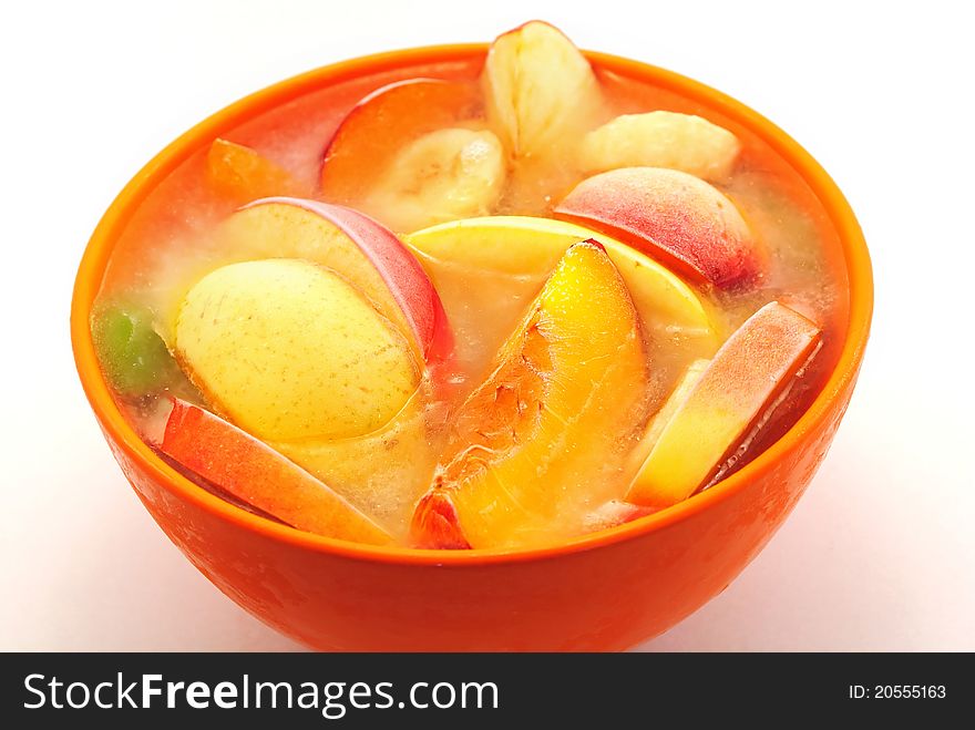
<svg viewBox="0 0 975 730">
<path fill-rule="evenodd" d="M 413 515 L 424 547 L 509 547 L 578 533 L 613 496 L 643 418 L 639 321 L 603 247 L 572 246 L 455 413 Z"/>
</svg>

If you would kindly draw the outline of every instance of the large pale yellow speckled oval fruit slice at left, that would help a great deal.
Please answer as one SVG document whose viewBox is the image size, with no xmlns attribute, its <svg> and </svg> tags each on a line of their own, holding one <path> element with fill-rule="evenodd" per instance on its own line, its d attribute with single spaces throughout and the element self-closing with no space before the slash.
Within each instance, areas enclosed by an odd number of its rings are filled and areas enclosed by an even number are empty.
<svg viewBox="0 0 975 730">
<path fill-rule="evenodd" d="M 184 298 L 175 349 L 222 415 L 404 534 L 433 467 L 427 385 L 358 289 L 297 259 L 224 266 Z"/>
</svg>

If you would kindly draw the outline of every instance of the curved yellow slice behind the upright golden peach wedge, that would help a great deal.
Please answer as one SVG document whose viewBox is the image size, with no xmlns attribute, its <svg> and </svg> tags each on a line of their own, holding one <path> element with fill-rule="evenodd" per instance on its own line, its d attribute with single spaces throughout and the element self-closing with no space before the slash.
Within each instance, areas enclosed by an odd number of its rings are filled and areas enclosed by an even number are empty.
<svg viewBox="0 0 975 730">
<path fill-rule="evenodd" d="M 629 246 L 563 220 L 526 216 L 471 218 L 404 237 L 441 292 L 462 361 L 486 361 L 511 332 L 558 259 L 573 244 L 596 238 L 623 277 L 643 326 L 667 351 L 709 358 L 720 345 L 701 299 L 677 276 Z M 497 281 L 504 299 L 472 291 L 470 281 Z M 519 295 L 519 296 L 515 296 Z"/>
</svg>

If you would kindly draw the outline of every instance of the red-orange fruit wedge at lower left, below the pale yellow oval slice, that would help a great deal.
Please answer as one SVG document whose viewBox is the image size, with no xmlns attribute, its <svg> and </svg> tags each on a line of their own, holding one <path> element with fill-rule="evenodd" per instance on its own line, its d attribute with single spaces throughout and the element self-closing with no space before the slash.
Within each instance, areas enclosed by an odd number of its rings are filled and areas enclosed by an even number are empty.
<svg viewBox="0 0 975 730">
<path fill-rule="evenodd" d="M 196 405 L 174 400 L 160 450 L 219 489 L 319 535 L 386 545 L 390 535 L 283 455 Z"/>
</svg>

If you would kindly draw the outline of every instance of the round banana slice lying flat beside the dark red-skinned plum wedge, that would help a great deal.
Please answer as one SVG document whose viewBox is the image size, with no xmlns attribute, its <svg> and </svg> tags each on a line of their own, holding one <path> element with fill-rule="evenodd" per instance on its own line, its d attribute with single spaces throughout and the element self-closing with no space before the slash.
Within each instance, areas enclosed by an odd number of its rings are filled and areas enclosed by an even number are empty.
<svg viewBox="0 0 975 730">
<path fill-rule="evenodd" d="M 504 178 L 504 151 L 493 133 L 438 130 L 397 153 L 361 207 L 408 233 L 491 213 Z"/>
</svg>

